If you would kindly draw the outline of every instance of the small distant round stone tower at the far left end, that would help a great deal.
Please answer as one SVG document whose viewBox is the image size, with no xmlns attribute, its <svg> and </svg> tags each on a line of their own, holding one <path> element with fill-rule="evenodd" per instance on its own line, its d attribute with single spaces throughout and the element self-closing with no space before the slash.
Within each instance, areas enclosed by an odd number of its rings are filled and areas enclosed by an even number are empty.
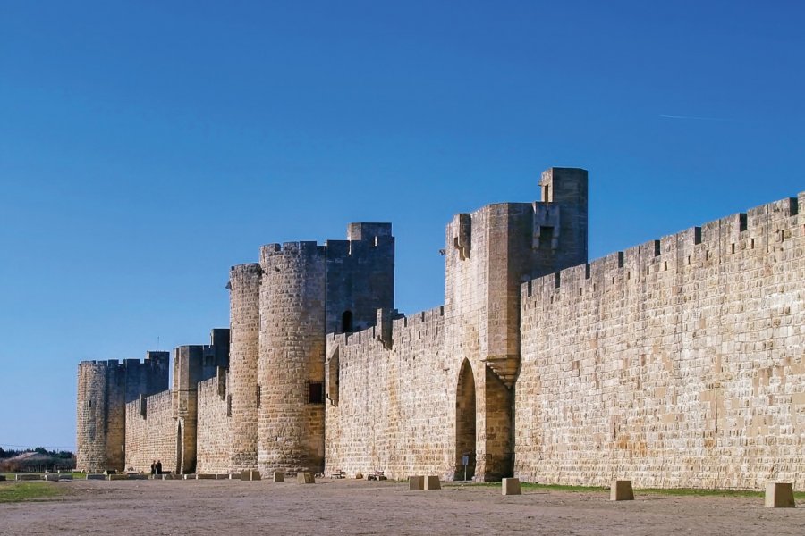
<svg viewBox="0 0 805 536">
<path fill-rule="evenodd" d="M 116 360 L 82 361 L 78 370 L 76 469 L 123 470 L 125 378 Z"/>
</svg>

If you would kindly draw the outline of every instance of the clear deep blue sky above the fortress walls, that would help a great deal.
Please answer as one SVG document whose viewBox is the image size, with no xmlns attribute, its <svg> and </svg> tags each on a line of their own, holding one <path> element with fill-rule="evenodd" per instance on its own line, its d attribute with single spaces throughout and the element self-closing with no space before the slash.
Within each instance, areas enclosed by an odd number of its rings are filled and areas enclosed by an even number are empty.
<svg viewBox="0 0 805 536">
<path fill-rule="evenodd" d="M 590 177 L 590 257 L 805 189 L 805 4 L 0 0 L 0 445 L 73 448 L 80 360 L 203 343 L 261 244 Z"/>
</svg>

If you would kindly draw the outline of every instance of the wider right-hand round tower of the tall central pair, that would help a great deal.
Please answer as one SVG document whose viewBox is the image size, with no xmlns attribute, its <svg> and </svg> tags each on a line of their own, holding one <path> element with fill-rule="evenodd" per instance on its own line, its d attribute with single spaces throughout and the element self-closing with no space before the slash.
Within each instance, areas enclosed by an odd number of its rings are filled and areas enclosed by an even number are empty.
<svg viewBox="0 0 805 536">
<path fill-rule="evenodd" d="M 260 251 L 258 469 L 324 466 L 326 248 L 271 244 Z"/>
</svg>

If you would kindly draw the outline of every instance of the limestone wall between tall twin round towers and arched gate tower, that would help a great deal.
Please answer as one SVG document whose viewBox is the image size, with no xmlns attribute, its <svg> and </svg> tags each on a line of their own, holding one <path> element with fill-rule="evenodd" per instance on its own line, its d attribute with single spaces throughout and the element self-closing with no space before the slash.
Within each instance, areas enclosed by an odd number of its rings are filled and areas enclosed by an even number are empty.
<svg viewBox="0 0 805 536">
<path fill-rule="evenodd" d="M 327 338 L 326 473 L 453 478 L 455 367 L 442 352 L 442 307 L 381 329 Z"/>
</svg>

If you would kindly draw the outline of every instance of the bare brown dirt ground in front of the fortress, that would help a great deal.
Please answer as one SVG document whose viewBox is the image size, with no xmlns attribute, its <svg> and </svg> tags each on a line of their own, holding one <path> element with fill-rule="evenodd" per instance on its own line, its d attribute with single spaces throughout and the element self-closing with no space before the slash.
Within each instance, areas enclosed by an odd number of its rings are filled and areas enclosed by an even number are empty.
<svg viewBox="0 0 805 536">
<path fill-rule="evenodd" d="M 0 482 L 9 485 L 9 482 Z M 805 508 L 762 498 L 499 487 L 409 491 L 407 483 L 331 481 L 52 482 L 55 500 L 0 504 L 0 534 L 805 534 Z"/>
</svg>

